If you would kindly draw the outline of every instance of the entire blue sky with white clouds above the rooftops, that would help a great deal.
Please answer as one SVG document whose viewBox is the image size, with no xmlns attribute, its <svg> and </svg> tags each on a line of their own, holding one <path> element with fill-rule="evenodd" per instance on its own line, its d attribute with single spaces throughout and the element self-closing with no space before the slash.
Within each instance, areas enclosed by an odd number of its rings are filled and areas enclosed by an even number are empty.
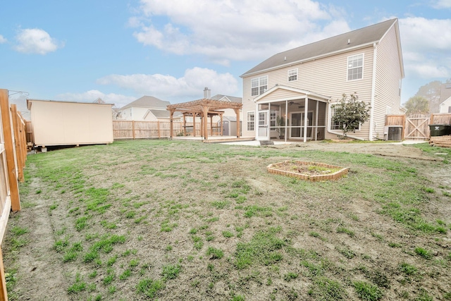
<svg viewBox="0 0 451 301">
<path fill-rule="evenodd" d="M 240 75 L 269 56 L 394 17 L 402 102 L 451 78 L 451 0 L 1 2 L 0 88 L 33 99 L 121 107 L 144 94 L 199 99 L 204 87 L 240 97 Z"/>
</svg>

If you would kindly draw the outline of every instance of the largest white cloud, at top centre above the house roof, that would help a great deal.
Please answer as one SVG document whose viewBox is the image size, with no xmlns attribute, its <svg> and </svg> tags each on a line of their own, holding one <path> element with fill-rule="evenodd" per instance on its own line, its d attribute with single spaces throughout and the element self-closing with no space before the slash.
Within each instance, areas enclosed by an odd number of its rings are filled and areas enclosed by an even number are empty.
<svg viewBox="0 0 451 301">
<path fill-rule="evenodd" d="M 140 11 L 129 20 L 138 42 L 223 64 L 266 58 L 350 30 L 338 10 L 311 0 L 141 0 Z M 159 16 L 168 21 L 159 24 Z"/>
</svg>

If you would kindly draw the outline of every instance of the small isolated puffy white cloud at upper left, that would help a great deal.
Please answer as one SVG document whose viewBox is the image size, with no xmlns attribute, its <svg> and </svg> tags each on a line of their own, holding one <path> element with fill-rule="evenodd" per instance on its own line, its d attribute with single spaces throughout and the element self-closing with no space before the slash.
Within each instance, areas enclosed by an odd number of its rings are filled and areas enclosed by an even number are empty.
<svg viewBox="0 0 451 301">
<path fill-rule="evenodd" d="M 16 50 L 25 54 L 44 55 L 64 46 L 39 28 L 20 30 L 16 40 L 18 42 Z"/>
</svg>

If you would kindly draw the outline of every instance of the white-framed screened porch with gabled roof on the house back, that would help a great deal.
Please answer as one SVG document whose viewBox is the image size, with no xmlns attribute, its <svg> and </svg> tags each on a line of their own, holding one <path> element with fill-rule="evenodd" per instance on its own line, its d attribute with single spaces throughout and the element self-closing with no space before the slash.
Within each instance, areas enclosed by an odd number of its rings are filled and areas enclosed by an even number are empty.
<svg viewBox="0 0 451 301">
<path fill-rule="evenodd" d="M 276 85 L 254 99 L 248 112 L 249 130 L 257 140 L 303 141 L 326 138 L 330 97 L 293 87 Z M 254 129 L 252 129 L 252 118 Z"/>
</svg>

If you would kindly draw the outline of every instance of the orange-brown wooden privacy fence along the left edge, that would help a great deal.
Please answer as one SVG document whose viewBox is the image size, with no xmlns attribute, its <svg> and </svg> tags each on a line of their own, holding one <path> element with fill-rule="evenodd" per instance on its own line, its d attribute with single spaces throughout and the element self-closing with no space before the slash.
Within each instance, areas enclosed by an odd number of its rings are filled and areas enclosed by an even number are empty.
<svg viewBox="0 0 451 301">
<path fill-rule="evenodd" d="M 25 121 L 16 105 L 9 106 L 8 90 L 0 89 L 0 243 L 3 241 L 9 212 L 20 210 L 18 180 L 23 181 L 27 156 Z M 8 300 L 0 246 L 0 300 Z"/>
</svg>

